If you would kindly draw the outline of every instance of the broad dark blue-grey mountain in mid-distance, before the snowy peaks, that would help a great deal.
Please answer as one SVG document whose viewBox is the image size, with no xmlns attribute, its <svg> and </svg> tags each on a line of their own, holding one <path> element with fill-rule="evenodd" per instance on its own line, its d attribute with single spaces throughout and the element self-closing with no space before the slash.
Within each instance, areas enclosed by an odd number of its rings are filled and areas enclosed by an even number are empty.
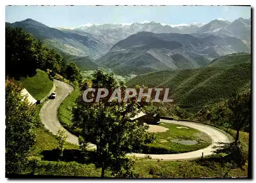
<svg viewBox="0 0 256 183">
<path fill-rule="evenodd" d="M 236 37 L 138 32 L 116 43 L 96 61 L 119 75 L 143 74 L 166 68 L 197 68 L 217 57 L 250 52 Z"/>
</svg>

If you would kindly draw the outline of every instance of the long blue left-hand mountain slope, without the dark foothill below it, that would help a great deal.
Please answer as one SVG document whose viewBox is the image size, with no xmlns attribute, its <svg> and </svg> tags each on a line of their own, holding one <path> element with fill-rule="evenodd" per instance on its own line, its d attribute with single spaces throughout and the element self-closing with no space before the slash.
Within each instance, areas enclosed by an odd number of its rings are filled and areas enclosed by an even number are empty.
<svg viewBox="0 0 256 183">
<path fill-rule="evenodd" d="M 60 31 L 33 19 L 16 21 L 8 25 L 21 27 L 35 38 L 42 39 L 51 48 L 66 54 L 96 57 L 97 54 L 101 55 L 105 52 L 105 48 L 99 40 L 89 34 L 82 35 L 76 31 Z"/>
</svg>

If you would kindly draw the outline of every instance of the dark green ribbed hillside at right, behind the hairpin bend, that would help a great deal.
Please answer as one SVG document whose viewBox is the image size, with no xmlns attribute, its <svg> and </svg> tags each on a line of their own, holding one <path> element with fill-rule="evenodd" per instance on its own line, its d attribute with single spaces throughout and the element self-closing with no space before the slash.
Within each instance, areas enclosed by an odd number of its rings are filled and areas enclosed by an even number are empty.
<svg viewBox="0 0 256 183">
<path fill-rule="evenodd" d="M 250 88 L 250 54 L 232 54 L 226 57 L 229 61 L 220 58 L 208 67 L 140 75 L 126 84 L 129 87 L 144 84 L 148 87 L 170 88 L 170 97 L 178 106 L 198 110 Z M 230 64 L 219 66 L 224 65 L 223 62 Z"/>
</svg>

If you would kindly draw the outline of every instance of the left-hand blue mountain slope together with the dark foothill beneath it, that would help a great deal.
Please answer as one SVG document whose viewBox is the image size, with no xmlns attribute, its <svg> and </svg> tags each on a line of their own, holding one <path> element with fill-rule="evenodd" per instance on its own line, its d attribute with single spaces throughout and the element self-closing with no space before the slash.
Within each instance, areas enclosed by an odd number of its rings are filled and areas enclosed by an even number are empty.
<svg viewBox="0 0 256 183">
<path fill-rule="evenodd" d="M 41 39 L 48 48 L 54 49 L 67 60 L 76 62 L 80 70 L 100 67 L 89 55 L 97 57 L 109 49 L 101 45 L 91 34 L 70 30 L 60 31 L 33 19 L 26 19 L 13 24 L 6 22 L 6 26 L 23 28 L 35 38 Z"/>
</svg>

